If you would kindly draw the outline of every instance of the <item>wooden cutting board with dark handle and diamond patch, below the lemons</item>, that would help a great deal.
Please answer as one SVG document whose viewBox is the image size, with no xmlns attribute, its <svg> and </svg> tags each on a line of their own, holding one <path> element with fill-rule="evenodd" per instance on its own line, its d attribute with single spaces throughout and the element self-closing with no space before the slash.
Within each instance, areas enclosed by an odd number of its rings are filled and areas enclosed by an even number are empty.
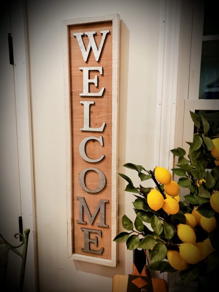
<svg viewBox="0 0 219 292">
<path fill-rule="evenodd" d="M 146 256 L 143 249 L 133 251 L 133 271 L 131 275 L 115 275 L 112 292 L 168 292 L 164 279 L 147 274 Z"/>
</svg>

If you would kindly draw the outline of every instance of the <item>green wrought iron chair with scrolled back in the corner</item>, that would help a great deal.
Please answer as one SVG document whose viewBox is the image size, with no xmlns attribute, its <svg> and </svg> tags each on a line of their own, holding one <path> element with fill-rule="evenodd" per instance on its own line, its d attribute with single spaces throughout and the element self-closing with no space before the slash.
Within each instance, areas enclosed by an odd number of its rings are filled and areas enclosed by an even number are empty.
<svg viewBox="0 0 219 292">
<path fill-rule="evenodd" d="M 3 288 L 4 291 L 8 291 L 8 283 L 6 283 L 6 274 L 7 274 L 7 257 L 8 257 L 8 251 L 12 250 L 15 254 L 18 254 L 22 258 L 22 264 L 21 264 L 21 273 L 20 273 L 20 283 L 19 283 L 19 289 L 14 287 L 14 289 L 18 292 L 23 292 L 23 283 L 24 283 L 24 272 L 25 272 L 25 266 L 26 266 L 26 259 L 27 259 L 27 248 L 28 248 L 28 237 L 29 237 L 30 229 L 24 230 L 24 236 L 22 233 L 16 233 L 14 235 L 15 238 L 18 238 L 20 236 L 21 243 L 17 246 L 10 244 L 5 238 L 3 238 L 2 234 L 0 233 L 0 244 L 5 245 L 3 258 L 1 261 L 0 268 L 3 269 L 3 283 L 0 283 L 0 289 Z M 23 252 L 21 252 L 18 248 L 23 247 Z M 10 290 L 11 291 L 11 290 Z"/>
</svg>

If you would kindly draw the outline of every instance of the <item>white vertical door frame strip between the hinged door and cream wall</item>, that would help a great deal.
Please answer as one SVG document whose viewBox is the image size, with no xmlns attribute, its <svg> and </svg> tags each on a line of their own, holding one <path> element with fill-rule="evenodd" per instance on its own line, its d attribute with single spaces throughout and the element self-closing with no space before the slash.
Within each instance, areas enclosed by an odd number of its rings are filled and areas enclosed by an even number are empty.
<svg viewBox="0 0 219 292">
<path fill-rule="evenodd" d="M 13 37 L 21 213 L 23 229 L 30 229 L 24 287 L 27 291 L 34 292 L 38 290 L 38 281 L 26 1 L 13 1 L 10 4 L 10 13 Z"/>
</svg>

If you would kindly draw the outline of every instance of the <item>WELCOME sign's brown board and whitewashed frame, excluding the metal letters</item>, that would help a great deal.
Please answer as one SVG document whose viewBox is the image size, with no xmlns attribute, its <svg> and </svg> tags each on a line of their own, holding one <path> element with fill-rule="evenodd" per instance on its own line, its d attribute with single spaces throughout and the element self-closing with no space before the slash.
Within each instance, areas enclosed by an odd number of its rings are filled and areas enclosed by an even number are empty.
<svg viewBox="0 0 219 292">
<path fill-rule="evenodd" d="M 101 22 L 99 22 L 101 21 Z M 91 22 L 91 23 L 90 23 Z M 94 22 L 94 23 L 93 23 Z M 81 24 L 82 23 L 82 24 Z M 96 31 L 94 35 L 97 47 L 101 41 L 101 30 L 109 30 L 104 46 L 97 62 L 91 51 L 87 62 L 84 62 L 76 37 L 73 33 Z M 119 52 L 119 16 L 111 15 L 98 18 L 80 19 L 63 22 L 64 41 L 64 86 L 65 86 L 65 113 L 66 113 L 66 152 L 67 152 L 67 213 L 68 213 L 68 256 L 109 266 L 116 265 L 116 243 L 113 238 L 117 232 L 117 140 L 118 140 L 118 52 Z M 88 37 L 83 36 L 85 48 Z M 79 67 L 102 67 L 103 74 L 90 71 L 89 79 L 98 76 L 98 86 L 89 85 L 89 92 L 99 92 L 104 87 L 101 97 L 80 96 L 83 92 L 83 71 Z M 84 105 L 80 101 L 94 101 L 90 105 L 90 127 L 98 128 L 106 123 L 103 132 L 81 131 L 84 126 Z M 91 163 L 84 161 L 79 154 L 80 142 L 89 136 L 102 136 L 104 145 L 90 140 L 86 143 L 86 154 L 91 159 L 97 159 L 102 154 L 104 159 Z M 104 173 L 106 185 L 98 193 L 84 191 L 79 185 L 78 175 L 87 167 L 95 167 Z M 99 185 L 96 172 L 89 171 L 85 176 L 85 184 L 91 190 Z M 91 215 L 94 213 L 100 199 L 108 200 L 105 204 L 105 224 L 109 227 L 99 227 L 99 213 L 92 225 L 77 223 L 79 220 L 79 201 L 76 197 L 84 197 Z M 98 237 L 98 246 L 90 243 L 90 249 L 98 250 L 104 247 L 102 254 L 84 253 L 84 233 L 81 228 L 101 230 L 102 237 L 91 233 L 90 238 Z"/>
</svg>

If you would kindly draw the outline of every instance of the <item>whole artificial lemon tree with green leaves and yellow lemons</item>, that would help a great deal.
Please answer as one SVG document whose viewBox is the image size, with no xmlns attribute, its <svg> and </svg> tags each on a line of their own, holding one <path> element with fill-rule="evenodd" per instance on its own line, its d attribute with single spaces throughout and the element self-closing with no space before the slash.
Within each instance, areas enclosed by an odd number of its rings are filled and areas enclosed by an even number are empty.
<svg viewBox="0 0 219 292">
<path fill-rule="evenodd" d="M 146 170 L 132 163 L 124 165 L 137 172 L 141 184 L 135 187 L 129 177 L 120 173 L 128 182 L 125 191 L 135 196 L 136 218 L 133 223 L 124 215 L 125 231 L 114 240 L 126 242 L 130 250 L 148 250 L 151 263 L 147 269 L 179 270 L 186 284 L 196 280 L 206 288 L 215 282 L 219 271 L 219 137 L 208 136 L 210 125 L 203 116 L 200 125 L 198 115 L 190 114 L 196 132 L 193 141 L 187 142 L 188 155 L 180 147 L 171 150 L 178 157 L 172 169 L 178 182 L 164 167 Z M 143 187 L 142 182 L 149 179 L 154 187 Z M 188 190 L 181 200 L 180 188 Z"/>
</svg>

